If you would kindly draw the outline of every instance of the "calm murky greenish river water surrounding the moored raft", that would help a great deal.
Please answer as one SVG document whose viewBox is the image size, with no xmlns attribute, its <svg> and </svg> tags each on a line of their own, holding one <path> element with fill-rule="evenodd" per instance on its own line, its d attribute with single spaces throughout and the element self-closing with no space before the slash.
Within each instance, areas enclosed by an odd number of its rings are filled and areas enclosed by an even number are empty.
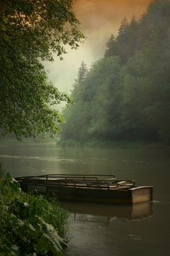
<svg viewBox="0 0 170 256">
<path fill-rule="evenodd" d="M 154 186 L 153 203 L 111 206 L 62 202 L 70 211 L 68 255 L 169 256 L 170 150 L 77 149 L 55 144 L 0 144 L 13 177 L 41 174 L 115 174 Z"/>
</svg>

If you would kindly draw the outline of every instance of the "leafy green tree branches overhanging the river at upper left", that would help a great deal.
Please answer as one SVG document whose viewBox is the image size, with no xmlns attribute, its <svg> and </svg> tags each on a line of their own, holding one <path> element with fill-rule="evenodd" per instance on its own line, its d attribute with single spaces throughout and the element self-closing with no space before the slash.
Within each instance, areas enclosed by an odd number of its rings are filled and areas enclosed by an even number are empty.
<svg viewBox="0 0 170 256">
<path fill-rule="evenodd" d="M 51 105 L 72 102 L 47 78 L 40 60 L 62 59 L 64 45 L 84 40 L 72 0 L 0 0 L 0 130 L 17 139 L 56 134 L 63 122 Z"/>
</svg>

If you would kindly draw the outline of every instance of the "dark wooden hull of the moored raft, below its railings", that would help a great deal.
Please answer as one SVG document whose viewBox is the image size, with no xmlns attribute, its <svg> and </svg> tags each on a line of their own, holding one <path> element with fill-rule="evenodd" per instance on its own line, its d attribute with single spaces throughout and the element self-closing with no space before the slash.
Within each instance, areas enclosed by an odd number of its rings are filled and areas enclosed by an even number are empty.
<svg viewBox="0 0 170 256">
<path fill-rule="evenodd" d="M 37 191 L 36 193 L 45 196 L 57 196 L 59 200 L 81 201 L 95 203 L 113 203 L 132 205 L 152 201 L 153 187 L 142 186 L 132 188 L 129 183 L 121 182 L 115 186 L 79 186 L 79 184 L 59 184 L 40 181 L 36 178 L 28 181 L 18 181 L 24 192 Z M 122 185 L 122 186 L 121 186 Z"/>
</svg>

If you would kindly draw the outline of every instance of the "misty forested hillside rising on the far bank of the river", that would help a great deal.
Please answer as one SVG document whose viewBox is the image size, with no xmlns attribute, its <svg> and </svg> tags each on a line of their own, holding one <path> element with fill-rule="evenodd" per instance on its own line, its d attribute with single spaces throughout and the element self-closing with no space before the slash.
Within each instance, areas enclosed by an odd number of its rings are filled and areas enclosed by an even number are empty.
<svg viewBox="0 0 170 256">
<path fill-rule="evenodd" d="M 72 98 L 62 141 L 170 142 L 170 1 L 123 18 L 104 57 L 90 70 L 81 63 Z"/>
</svg>

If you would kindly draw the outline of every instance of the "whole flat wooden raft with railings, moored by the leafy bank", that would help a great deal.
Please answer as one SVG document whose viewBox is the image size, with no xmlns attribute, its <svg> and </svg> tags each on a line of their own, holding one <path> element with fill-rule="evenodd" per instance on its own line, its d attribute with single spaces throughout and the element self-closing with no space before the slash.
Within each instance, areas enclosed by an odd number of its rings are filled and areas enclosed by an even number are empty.
<svg viewBox="0 0 170 256">
<path fill-rule="evenodd" d="M 23 191 L 37 191 L 59 200 L 133 204 L 152 201 L 153 187 L 136 187 L 135 181 L 109 175 L 50 174 L 19 177 Z"/>
</svg>

